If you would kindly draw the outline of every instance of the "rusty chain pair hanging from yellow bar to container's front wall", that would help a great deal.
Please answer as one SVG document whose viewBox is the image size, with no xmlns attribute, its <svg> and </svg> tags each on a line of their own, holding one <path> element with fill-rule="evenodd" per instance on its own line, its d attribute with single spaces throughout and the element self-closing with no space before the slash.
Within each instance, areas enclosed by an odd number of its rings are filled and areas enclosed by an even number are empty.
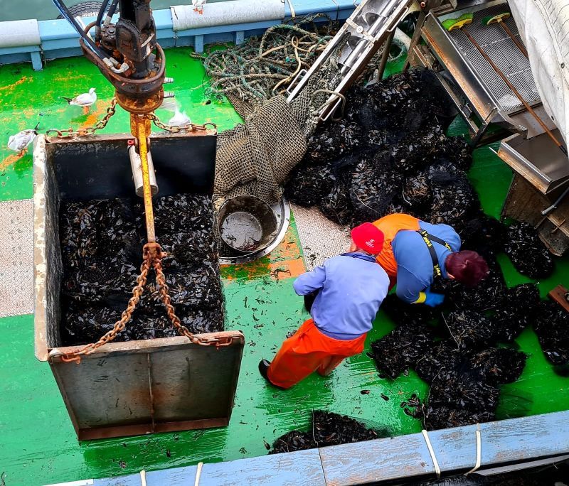
<svg viewBox="0 0 569 486">
<path fill-rule="evenodd" d="M 155 256 L 153 256 L 153 254 Z M 162 271 L 162 258 L 164 256 L 165 254 L 162 252 L 159 244 L 147 243 L 144 245 L 142 250 L 140 275 L 137 276 L 137 285 L 132 289 L 132 297 L 129 299 L 127 308 L 123 311 L 121 318 L 117 320 L 112 330 L 103 335 L 100 340 L 85 345 L 80 350 L 65 353 L 65 355 L 61 356 L 61 360 L 64 362 L 73 361 L 79 364 L 81 362 L 81 355 L 90 355 L 92 352 L 97 350 L 98 347 L 114 340 L 117 337 L 117 334 L 124 330 L 125 326 L 132 318 L 132 313 L 134 313 L 134 309 L 137 307 L 142 293 L 144 293 L 144 286 L 147 284 L 148 272 L 151 268 L 154 269 L 156 274 L 156 283 L 158 284 L 161 301 L 164 303 L 164 307 L 166 307 L 166 314 L 168 314 L 171 323 L 174 325 L 174 328 L 176 328 L 179 335 L 186 336 L 186 338 L 193 342 L 193 344 L 201 346 L 216 345 L 216 347 L 223 347 L 231 344 L 231 338 L 205 338 L 201 335 L 195 335 L 181 323 L 180 318 L 176 315 L 174 306 L 172 306 L 169 288 L 166 284 L 166 277 Z"/>
</svg>

